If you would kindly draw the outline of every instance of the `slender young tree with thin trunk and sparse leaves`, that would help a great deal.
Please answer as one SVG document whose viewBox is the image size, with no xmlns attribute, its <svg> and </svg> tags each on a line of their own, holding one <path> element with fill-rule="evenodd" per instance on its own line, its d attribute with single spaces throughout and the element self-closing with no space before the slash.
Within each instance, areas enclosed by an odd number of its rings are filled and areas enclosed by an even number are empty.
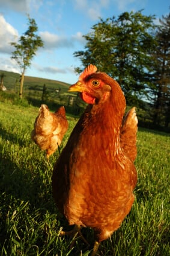
<svg viewBox="0 0 170 256">
<path fill-rule="evenodd" d="M 34 19 L 28 15 L 28 30 L 20 36 L 19 43 L 11 42 L 16 50 L 13 51 L 11 58 L 16 60 L 21 69 L 20 75 L 20 98 L 23 97 L 23 82 L 26 69 L 31 66 L 31 60 L 35 56 L 38 48 L 43 47 L 44 43 L 40 36 L 37 36 L 37 24 Z"/>
</svg>

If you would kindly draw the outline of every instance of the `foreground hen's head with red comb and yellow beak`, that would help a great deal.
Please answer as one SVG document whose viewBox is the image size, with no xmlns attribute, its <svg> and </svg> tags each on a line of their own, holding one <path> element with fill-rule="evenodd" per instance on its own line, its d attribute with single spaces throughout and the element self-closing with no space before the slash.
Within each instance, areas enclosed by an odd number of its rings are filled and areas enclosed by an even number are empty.
<svg viewBox="0 0 170 256">
<path fill-rule="evenodd" d="M 120 86 L 113 78 L 104 72 L 96 71 L 96 66 L 92 64 L 87 66 L 80 75 L 79 81 L 70 86 L 69 91 L 80 92 L 80 97 L 88 104 L 105 102 L 117 90 L 123 95 Z"/>
</svg>

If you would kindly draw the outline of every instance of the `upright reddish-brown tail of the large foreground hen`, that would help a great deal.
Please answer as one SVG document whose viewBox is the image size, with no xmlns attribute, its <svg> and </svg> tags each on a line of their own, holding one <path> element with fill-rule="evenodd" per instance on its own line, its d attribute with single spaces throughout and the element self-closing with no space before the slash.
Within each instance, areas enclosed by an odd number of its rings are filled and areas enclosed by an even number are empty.
<svg viewBox="0 0 170 256">
<path fill-rule="evenodd" d="M 138 130 L 138 118 L 136 117 L 135 107 L 127 112 L 123 118 L 121 130 L 120 130 L 120 144 L 124 153 L 130 158 L 131 161 L 135 161 L 137 155 L 136 148 L 136 134 Z"/>
</svg>

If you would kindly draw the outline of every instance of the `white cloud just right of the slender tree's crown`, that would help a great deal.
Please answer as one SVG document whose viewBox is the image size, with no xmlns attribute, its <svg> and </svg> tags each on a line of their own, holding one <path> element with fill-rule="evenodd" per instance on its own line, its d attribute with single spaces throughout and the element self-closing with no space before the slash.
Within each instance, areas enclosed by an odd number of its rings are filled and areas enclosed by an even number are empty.
<svg viewBox="0 0 170 256">
<path fill-rule="evenodd" d="M 57 34 L 49 33 L 48 31 L 40 32 L 41 39 L 44 41 L 44 48 L 50 50 L 53 48 L 71 48 L 73 42 L 67 37 L 59 37 Z"/>
</svg>

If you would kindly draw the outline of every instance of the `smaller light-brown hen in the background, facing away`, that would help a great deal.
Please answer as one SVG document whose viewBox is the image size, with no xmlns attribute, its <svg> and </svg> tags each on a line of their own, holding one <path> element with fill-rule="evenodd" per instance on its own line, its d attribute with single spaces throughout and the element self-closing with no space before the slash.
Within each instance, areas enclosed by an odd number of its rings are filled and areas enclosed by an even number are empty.
<svg viewBox="0 0 170 256">
<path fill-rule="evenodd" d="M 31 138 L 42 150 L 46 150 L 46 157 L 52 155 L 61 144 L 62 138 L 67 132 L 68 122 L 65 117 L 65 108 L 59 107 L 55 113 L 42 104 L 38 117 L 35 119 L 34 130 Z"/>
</svg>

